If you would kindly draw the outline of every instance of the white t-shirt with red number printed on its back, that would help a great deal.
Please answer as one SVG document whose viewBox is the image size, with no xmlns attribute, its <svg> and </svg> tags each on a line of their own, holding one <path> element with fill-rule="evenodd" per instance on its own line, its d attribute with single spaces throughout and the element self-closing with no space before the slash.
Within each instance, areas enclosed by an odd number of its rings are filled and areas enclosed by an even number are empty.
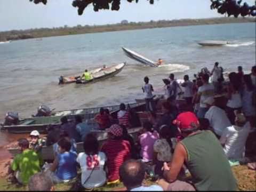
<svg viewBox="0 0 256 192">
<path fill-rule="evenodd" d="M 106 172 L 103 169 L 107 161 L 105 153 L 99 152 L 98 155 L 86 155 L 85 153 L 79 153 L 76 161 L 81 166 L 81 182 L 83 187 L 94 188 L 100 187 L 105 184 L 105 182 L 107 181 Z M 96 167 L 92 172 L 94 166 Z M 90 174 L 91 177 L 89 180 L 87 180 Z M 86 183 L 84 184 L 85 181 Z"/>
</svg>

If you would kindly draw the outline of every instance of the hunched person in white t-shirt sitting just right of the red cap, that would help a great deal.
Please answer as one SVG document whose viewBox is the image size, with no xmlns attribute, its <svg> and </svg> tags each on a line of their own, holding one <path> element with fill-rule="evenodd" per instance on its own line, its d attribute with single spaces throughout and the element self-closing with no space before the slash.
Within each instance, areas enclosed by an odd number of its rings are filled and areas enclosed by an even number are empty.
<svg viewBox="0 0 256 192">
<path fill-rule="evenodd" d="M 219 139 L 223 130 L 231 126 L 228 116 L 225 112 L 226 99 L 222 95 L 215 95 L 213 106 L 206 112 L 205 118 L 209 120 L 210 126 Z"/>
</svg>

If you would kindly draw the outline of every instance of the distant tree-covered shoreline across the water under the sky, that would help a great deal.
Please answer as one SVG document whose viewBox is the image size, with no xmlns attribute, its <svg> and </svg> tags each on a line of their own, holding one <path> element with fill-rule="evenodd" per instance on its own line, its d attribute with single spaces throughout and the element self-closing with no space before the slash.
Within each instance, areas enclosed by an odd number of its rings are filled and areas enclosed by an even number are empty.
<svg viewBox="0 0 256 192">
<path fill-rule="evenodd" d="M 86 33 L 99 33 L 105 31 L 119 31 L 119 30 L 133 30 L 133 29 L 146 29 L 146 28 L 161 28 L 161 27 L 174 27 L 174 26 L 189 26 L 189 25 L 213 25 L 220 23 L 234 23 L 234 22 L 255 22 L 255 18 L 210 18 L 210 19 L 180 19 L 180 20 L 159 20 L 149 22 L 129 22 L 123 20 L 120 23 L 113 25 L 89 26 L 77 25 L 69 27 L 53 28 L 35 28 L 26 30 L 10 30 L 0 32 L 0 41 L 9 41 L 26 38 L 41 38 L 60 35 L 75 35 Z"/>
</svg>

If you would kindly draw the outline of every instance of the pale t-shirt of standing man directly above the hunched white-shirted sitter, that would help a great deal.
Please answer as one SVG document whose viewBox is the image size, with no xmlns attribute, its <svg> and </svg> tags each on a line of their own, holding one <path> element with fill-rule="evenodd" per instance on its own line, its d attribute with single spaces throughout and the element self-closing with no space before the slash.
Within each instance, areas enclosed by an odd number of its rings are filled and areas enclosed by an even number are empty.
<svg viewBox="0 0 256 192">
<path fill-rule="evenodd" d="M 212 84 L 204 84 L 198 88 L 198 93 L 201 93 L 200 107 L 206 108 L 207 105 L 204 102 L 206 99 L 213 97 L 214 86 Z"/>
</svg>

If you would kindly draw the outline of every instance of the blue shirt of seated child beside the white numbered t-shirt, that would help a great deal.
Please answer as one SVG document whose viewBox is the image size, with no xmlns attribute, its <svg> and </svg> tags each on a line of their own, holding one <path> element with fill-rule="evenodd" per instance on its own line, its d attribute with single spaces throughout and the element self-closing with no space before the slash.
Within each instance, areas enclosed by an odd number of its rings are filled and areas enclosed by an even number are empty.
<svg viewBox="0 0 256 192">
<path fill-rule="evenodd" d="M 76 177 L 76 158 L 77 155 L 72 152 L 58 154 L 59 164 L 56 175 L 61 180 L 70 180 Z"/>
</svg>

